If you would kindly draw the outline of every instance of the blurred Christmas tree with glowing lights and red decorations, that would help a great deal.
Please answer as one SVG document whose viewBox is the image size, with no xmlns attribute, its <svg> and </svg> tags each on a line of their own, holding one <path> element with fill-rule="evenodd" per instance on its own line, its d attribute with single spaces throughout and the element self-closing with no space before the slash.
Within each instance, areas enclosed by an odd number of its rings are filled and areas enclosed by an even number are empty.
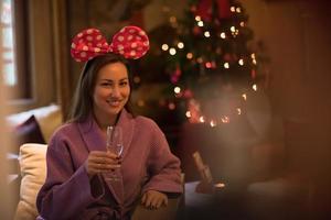
<svg viewBox="0 0 331 220">
<path fill-rule="evenodd" d="M 236 0 L 191 0 L 184 15 L 150 33 L 146 70 L 164 81 L 159 106 L 181 120 L 216 127 L 245 113 L 247 96 L 261 86 L 264 57 L 253 42 L 248 15 Z M 143 66 L 143 65 L 142 65 Z"/>
</svg>

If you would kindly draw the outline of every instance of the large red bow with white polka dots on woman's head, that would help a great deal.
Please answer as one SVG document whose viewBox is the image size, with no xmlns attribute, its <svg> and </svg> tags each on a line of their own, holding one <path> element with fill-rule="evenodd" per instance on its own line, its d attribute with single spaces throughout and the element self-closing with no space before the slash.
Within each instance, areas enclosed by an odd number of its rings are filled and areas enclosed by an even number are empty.
<svg viewBox="0 0 331 220">
<path fill-rule="evenodd" d="M 125 26 L 113 36 L 110 45 L 97 29 L 78 33 L 72 43 L 71 54 L 76 62 L 87 62 L 107 53 L 121 54 L 125 58 L 140 58 L 149 50 L 149 40 L 138 26 Z"/>
</svg>

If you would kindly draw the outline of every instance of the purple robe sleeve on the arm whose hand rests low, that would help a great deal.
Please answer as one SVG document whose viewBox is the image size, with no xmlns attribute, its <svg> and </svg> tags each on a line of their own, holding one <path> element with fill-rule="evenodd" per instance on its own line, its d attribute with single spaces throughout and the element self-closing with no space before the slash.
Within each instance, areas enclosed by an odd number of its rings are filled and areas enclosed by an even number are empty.
<svg viewBox="0 0 331 220">
<path fill-rule="evenodd" d="M 152 141 L 147 158 L 150 179 L 142 187 L 142 194 L 150 189 L 181 194 L 183 187 L 180 160 L 171 153 L 167 139 L 157 124 L 154 124 L 151 134 Z"/>
</svg>

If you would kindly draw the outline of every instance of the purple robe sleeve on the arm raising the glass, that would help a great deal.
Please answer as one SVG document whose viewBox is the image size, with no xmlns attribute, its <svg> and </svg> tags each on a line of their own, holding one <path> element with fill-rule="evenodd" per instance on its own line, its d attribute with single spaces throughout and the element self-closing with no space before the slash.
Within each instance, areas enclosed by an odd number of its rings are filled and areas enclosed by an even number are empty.
<svg viewBox="0 0 331 220">
<path fill-rule="evenodd" d="M 74 170 L 67 144 L 58 135 L 49 145 L 46 165 L 46 179 L 36 198 L 42 218 L 68 219 L 102 197 L 95 197 L 96 194 L 90 190 L 90 180 L 83 164 Z M 92 182 L 100 179 L 93 178 Z M 102 183 L 99 185 L 103 187 Z"/>
</svg>

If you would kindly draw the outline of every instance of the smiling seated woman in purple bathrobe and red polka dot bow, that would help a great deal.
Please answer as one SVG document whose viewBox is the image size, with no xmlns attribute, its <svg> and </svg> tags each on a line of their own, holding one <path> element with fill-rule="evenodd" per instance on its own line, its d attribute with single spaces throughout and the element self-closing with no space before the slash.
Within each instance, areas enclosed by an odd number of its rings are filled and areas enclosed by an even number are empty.
<svg viewBox="0 0 331 220">
<path fill-rule="evenodd" d="M 127 26 L 103 52 L 90 44 L 79 45 L 87 41 L 105 46 L 97 30 L 82 33 L 74 38 L 72 55 L 87 63 L 71 120 L 50 142 L 47 177 L 38 195 L 38 210 L 47 220 L 130 219 L 137 202 L 151 209 L 167 206 L 169 195 L 182 193 L 180 162 L 171 154 L 158 125 L 148 118 L 135 117 L 129 108 L 130 74 L 126 58 L 143 56 L 147 36 L 139 28 Z M 132 34 L 134 38 L 137 36 L 136 51 L 132 42 L 126 44 L 130 50 L 118 46 L 116 40 L 124 45 Z M 106 151 L 109 125 L 122 129 L 120 157 Z M 119 180 L 105 178 L 109 172 L 116 172 Z"/>
</svg>

